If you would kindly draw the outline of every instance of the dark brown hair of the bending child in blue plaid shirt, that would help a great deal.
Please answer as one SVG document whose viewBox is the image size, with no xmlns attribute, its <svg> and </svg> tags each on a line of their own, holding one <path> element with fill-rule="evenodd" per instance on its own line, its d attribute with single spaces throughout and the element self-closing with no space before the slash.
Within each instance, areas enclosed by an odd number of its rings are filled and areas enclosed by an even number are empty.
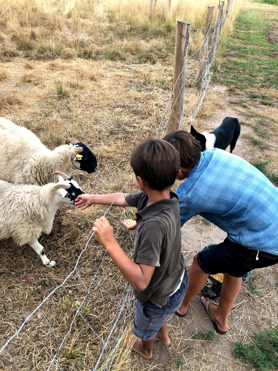
<svg viewBox="0 0 278 371">
<path fill-rule="evenodd" d="M 200 143 L 186 130 L 174 130 L 164 138 L 171 143 L 179 152 L 181 167 L 184 169 L 193 168 L 201 157 Z"/>
</svg>

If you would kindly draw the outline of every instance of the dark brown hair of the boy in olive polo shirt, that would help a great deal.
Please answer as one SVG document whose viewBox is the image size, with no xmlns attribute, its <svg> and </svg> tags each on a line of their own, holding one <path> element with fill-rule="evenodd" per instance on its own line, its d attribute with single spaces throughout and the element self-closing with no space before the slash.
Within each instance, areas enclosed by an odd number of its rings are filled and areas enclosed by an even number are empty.
<svg viewBox="0 0 278 371">
<path fill-rule="evenodd" d="M 179 171 L 179 154 L 172 144 L 162 139 L 150 139 L 134 148 L 130 165 L 149 187 L 163 191 L 171 187 Z"/>
</svg>

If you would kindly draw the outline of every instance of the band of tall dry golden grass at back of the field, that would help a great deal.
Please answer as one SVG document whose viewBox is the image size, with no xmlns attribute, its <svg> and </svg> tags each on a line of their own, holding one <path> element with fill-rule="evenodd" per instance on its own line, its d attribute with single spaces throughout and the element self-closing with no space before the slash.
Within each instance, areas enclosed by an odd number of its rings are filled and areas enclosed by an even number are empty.
<svg viewBox="0 0 278 371">
<path fill-rule="evenodd" d="M 166 8 L 162 16 L 163 1 L 159 0 L 149 17 L 149 0 L 0 0 L 0 28 L 16 42 L 17 49 L 33 59 L 132 58 L 155 63 L 172 54 L 178 19 L 191 22 L 188 53 L 195 52 L 201 43 L 206 9 L 218 3 L 173 0 L 171 10 Z M 240 5 L 238 0 L 224 26 L 223 45 Z M 137 42 L 136 50 L 126 45 L 134 39 L 144 40 Z M 153 47 L 153 41 L 162 47 Z"/>
</svg>

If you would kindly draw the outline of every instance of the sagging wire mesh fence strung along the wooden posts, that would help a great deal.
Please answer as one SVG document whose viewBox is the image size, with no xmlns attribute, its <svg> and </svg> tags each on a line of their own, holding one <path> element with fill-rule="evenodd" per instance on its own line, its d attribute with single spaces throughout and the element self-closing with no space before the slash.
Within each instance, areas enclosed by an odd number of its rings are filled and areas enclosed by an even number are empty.
<svg viewBox="0 0 278 371">
<path fill-rule="evenodd" d="M 225 13 L 225 17 L 222 17 L 221 13 L 221 18 L 216 19 L 215 24 L 220 22 L 222 27 L 228 12 Z M 173 128 L 171 122 L 173 107 L 178 102 L 179 94 L 183 92 L 178 128 L 194 122 L 208 89 L 210 70 L 221 32 L 221 27 L 218 27 L 214 33 L 215 24 L 209 27 L 208 38 L 199 49 L 186 58 L 182 72 L 173 86 L 173 90 L 179 86 L 179 93 L 175 101 L 172 100 L 172 94 L 169 97 L 156 132 L 157 138 L 162 138 Z M 201 49 L 203 49 L 202 62 L 199 58 Z M 196 78 L 200 63 L 203 62 L 203 71 Z M 180 81 L 181 78 L 183 81 Z M 132 176 L 120 193 L 131 193 L 133 183 Z M 113 204 L 106 210 L 105 215 L 108 218 L 112 206 Z M 118 217 L 121 220 L 133 219 L 134 210 L 126 207 Z M 121 246 L 125 245 L 125 251 L 132 257 L 134 233 L 122 228 L 120 223 L 116 237 Z M 7 335 L 0 355 L 6 356 L 11 353 L 17 354 L 17 358 L 28 356 L 28 359 L 32 359 L 28 370 L 47 371 L 110 370 L 115 358 L 121 357 L 121 341 L 130 326 L 135 299 L 130 285 L 125 282 L 120 272 L 109 273 L 112 272 L 110 267 L 114 265 L 107 252 L 99 250 L 96 257 L 95 249 L 92 248 L 92 238 L 93 233 L 81 251 L 74 269 L 63 282 L 57 285 L 31 313 L 26 314 L 20 326 L 15 324 L 18 329 L 13 331 L 12 336 Z M 78 292 L 79 297 L 75 298 L 75 301 L 70 298 L 64 299 L 64 293 L 69 287 Z M 59 318 L 54 320 L 52 308 L 55 306 L 60 306 L 61 311 Z M 19 354 L 17 348 L 22 343 L 26 344 L 26 347 L 21 347 Z M 22 353 L 22 349 L 25 349 L 25 354 Z M 16 369 L 27 370 L 22 366 L 20 368 L 14 366 L 14 370 Z"/>
</svg>

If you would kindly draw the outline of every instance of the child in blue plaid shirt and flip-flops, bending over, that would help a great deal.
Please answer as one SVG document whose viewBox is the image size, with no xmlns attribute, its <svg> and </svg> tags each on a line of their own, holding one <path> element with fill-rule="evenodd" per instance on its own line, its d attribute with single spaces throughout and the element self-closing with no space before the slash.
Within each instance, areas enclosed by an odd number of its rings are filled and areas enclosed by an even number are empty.
<svg viewBox="0 0 278 371">
<path fill-rule="evenodd" d="M 186 314 L 209 274 L 222 272 L 219 304 L 209 298 L 201 300 L 216 331 L 225 334 L 242 276 L 278 263 L 278 189 L 234 154 L 217 148 L 201 154 L 199 142 L 185 130 L 172 131 L 164 139 L 179 152 L 177 178 L 186 178 L 176 190 L 181 226 L 199 214 L 228 234 L 224 242 L 194 256 L 188 290 L 176 314 Z"/>
</svg>

